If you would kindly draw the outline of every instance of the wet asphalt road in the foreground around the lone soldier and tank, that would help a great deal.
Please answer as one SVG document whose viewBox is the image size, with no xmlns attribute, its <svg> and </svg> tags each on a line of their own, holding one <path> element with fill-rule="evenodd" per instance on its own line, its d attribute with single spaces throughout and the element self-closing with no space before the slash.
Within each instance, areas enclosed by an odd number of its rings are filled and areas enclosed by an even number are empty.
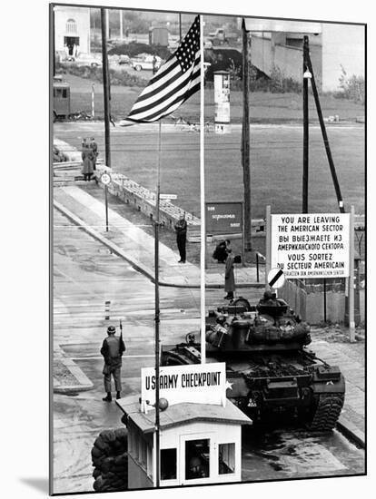
<svg viewBox="0 0 376 499">
<path fill-rule="evenodd" d="M 54 395 L 54 493 L 93 490 L 90 451 L 95 437 L 122 426 L 114 403 L 102 401 L 105 329 L 124 319 L 127 351 L 123 395 L 138 393 L 141 367 L 153 366 L 153 284 L 54 210 L 54 343 L 74 359 L 94 389 Z M 199 325 L 199 290 L 161 288 L 161 339 L 181 341 Z M 207 307 L 222 301 L 207 295 Z M 110 319 L 104 301 L 110 300 Z M 363 452 L 337 432 L 309 435 L 299 430 L 247 432 L 242 479 L 275 480 L 317 475 L 361 474 Z"/>
</svg>

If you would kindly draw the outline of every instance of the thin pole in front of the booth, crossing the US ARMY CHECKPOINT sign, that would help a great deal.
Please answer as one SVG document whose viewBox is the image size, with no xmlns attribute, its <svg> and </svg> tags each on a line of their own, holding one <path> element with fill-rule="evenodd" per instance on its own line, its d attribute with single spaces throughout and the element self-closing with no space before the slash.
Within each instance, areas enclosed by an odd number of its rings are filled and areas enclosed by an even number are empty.
<svg viewBox="0 0 376 499">
<path fill-rule="evenodd" d="M 159 438 L 159 198 L 161 194 L 161 142 L 162 142 L 162 122 L 159 121 L 158 131 L 158 163 L 157 163 L 157 186 L 155 200 L 155 221 L 154 221 L 154 303 L 155 303 L 155 486 L 160 484 L 160 438 Z"/>
</svg>

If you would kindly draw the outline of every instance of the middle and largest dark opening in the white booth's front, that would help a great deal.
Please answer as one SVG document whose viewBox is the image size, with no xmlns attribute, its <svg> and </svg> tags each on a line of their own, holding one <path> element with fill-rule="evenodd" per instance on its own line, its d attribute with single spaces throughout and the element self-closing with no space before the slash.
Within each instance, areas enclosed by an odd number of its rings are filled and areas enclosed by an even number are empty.
<svg viewBox="0 0 376 499">
<path fill-rule="evenodd" d="M 207 478 L 210 468 L 210 440 L 187 440 L 185 442 L 185 479 Z"/>
</svg>

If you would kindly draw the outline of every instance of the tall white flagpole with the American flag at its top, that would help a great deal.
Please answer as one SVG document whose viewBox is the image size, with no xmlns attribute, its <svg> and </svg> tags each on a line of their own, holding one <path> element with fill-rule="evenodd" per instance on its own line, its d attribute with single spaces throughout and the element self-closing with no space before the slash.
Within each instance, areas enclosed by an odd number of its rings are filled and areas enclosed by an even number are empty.
<svg viewBox="0 0 376 499">
<path fill-rule="evenodd" d="M 200 15 L 200 218 L 201 218 L 201 252 L 200 252 L 200 309 L 201 309 L 201 362 L 206 361 L 205 349 L 205 168 L 203 157 L 203 104 L 204 104 L 204 73 L 203 73 L 203 15 Z"/>
</svg>

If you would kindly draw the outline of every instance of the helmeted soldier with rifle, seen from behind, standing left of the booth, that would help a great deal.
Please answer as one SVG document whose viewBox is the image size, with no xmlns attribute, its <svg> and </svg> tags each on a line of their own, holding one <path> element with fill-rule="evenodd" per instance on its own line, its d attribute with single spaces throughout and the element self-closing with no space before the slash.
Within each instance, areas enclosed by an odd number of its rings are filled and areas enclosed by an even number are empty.
<svg viewBox="0 0 376 499">
<path fill-rule="evenodd" d="M 112 401 L 111 375 L 114 377 L 116 398 L 121 397 L 120 394 L 122 391 L 121 368 L 125 345 L 122 335 L 120 337 L 116 337 L 115 332 L 116 329 L 114 326 L 109 326 L 109 328 L 107 328 L 107 338 L 104 338 L 101 348 L 101 354 L 104 356 L 104 391 L 107 394 L 102 399 L 104 402 Z"/>
</svg>

